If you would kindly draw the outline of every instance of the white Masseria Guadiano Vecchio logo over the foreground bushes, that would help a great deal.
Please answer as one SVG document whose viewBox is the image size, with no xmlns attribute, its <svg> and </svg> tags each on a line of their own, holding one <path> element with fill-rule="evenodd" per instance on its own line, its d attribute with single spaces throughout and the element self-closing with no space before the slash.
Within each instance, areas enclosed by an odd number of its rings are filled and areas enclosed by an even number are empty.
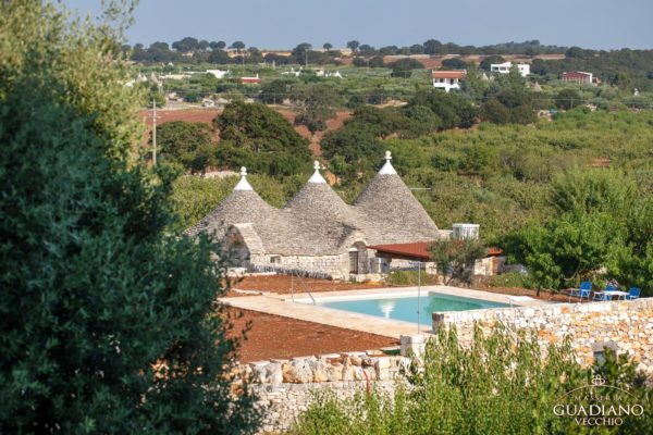
<svg viewBox="0 0 653 435">
<path fill-rule="evenodd" d="M 640 418 L 644 407 L 627 389 L 608 385 L 594 374 L 590 385 L 566 393 L 553 406 L 553 413 L 574 419 L 579 426 L 620 426 L 629 418 Z"/>
</svg>

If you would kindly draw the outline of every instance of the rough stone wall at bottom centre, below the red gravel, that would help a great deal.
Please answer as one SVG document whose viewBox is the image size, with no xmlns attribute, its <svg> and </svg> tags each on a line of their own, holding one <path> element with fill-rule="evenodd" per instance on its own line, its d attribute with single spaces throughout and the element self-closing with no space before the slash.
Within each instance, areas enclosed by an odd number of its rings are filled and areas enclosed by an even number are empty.
<svg viewBox="0 0 653 435">
<path fill-rule="evenodd" d="M 369 386 L 392 395 L 408 363 L 408 358 L 369 350 L 257 361 L 241 371 L 266 409 L 262 433 L 278 433 L 291 428 L 317 390 L 331 389 L 344 398 Z"/>
</svg>

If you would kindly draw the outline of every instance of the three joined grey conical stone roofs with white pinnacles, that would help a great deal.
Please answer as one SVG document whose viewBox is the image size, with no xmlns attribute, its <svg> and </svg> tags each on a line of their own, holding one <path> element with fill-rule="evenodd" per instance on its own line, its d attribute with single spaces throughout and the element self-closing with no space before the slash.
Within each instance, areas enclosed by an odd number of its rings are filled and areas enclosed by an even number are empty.
<svg viewBox="0 0 653 435">
<path fill-rule="evenodd" d="M 320 174 L 319 163 L 308 183 L 282 210 L 258 196 L 242 169 L 241 181 L 214 210 L 186 233 L 208 233 L 217 241 L 233 225 L 257 237 L 257 247 L 268 254 L 341 254 L 355 241 L 366 245 L 399 244 L 438 238 L 438 227 L 412 192 L 386 162 L 360 194 L 346 204 Z"/>
</svg>

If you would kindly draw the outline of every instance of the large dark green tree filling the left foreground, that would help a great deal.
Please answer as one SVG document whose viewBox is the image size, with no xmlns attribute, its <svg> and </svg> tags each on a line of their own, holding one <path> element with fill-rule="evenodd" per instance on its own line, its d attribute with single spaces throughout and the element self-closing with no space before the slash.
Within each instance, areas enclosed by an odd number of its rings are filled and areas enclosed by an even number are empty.
<svg viewBox="0 0 653 435">
<path fill-rule="evenodd" d="M 112 24 L 0 3 L 0 433 L 252 432 L 225 265 L 169 231 L 171 174 L 133 159 Z"/>
</svg>

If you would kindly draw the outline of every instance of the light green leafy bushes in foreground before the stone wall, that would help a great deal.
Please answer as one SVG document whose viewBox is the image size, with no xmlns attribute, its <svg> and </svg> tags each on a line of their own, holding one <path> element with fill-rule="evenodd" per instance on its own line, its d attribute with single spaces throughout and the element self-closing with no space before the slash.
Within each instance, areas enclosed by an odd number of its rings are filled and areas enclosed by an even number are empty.
<svg viewBox="0 0 653 435">
<path fill-rule="evenodd" d="M 501 325 L 486 336 L 477 330 L 470 347 L 458 343 L 455 330 L 440 330 L 423 360 L 423 370 L 412 368 L 409 385 L 392 397 L 378 390 L 353 399 L 318 395 L 293 433 L 580 434 L 587 426 L 555 415 L 553 407 L 565 393 L 590 385 L 592 373 L 605 376 L 607 385 L 632 393 L 619 405 L 645 403 L 644 415 L 653 410 L 652 389 L 625 356 L 607 352 L 605 362 L 582 369 L 568 344 L 550 347 L 544 359 L 535 336 L 515 335 Z M 608 388 L 597 389 L 605 397 Z M 586 407 L 596 403 L 592 399 L 581 402 Z M 652 430 L 646 417 L 624 420 L 620 426 L 602 426 L 601 433 Z"/>
</svg>

